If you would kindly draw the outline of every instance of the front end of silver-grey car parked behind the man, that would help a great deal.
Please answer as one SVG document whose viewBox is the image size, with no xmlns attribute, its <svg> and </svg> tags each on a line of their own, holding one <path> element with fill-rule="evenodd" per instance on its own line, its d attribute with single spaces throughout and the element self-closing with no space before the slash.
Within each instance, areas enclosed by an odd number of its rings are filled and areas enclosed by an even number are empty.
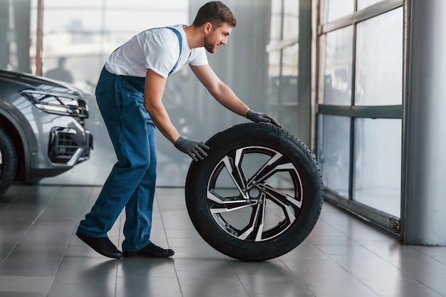
<svg viewBox="0 0 446 297">
<path fill-rule="evenodd" d="M 88 105 L 72 85 L 0 70 L 0 195 L 88 160 Z"/>
</svg>

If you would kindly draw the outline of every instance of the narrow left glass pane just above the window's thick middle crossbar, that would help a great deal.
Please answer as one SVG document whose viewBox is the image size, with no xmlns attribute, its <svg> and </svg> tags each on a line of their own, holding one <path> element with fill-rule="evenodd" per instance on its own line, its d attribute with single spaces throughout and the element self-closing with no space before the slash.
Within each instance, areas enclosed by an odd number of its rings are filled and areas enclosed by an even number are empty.
<svg viewBox="0 0 446 297">
<path fill-rule="evenodd" d="M 351 105 L 352 48 L 353 26 L 326 34 L 321 53 L 320 103 Z"/>
</svg>

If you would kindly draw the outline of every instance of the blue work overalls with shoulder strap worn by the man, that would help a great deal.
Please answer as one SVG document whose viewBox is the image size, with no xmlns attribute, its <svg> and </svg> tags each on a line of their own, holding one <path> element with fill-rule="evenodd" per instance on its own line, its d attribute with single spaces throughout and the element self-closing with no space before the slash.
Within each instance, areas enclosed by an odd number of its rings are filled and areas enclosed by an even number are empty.
<svg viewBox="0 0 446 297">
<path fill-rule="evenodd" d="M 181 54 L 180 32 L 170 29 L 179 38 Z M 144 83 L 145 78 L 115 75 L 103 68 L 95 90 L 118 162 L 78 232 L 107 236 L 125 207 L 123 251 L 139 251 L 151 242 L 157 157 L 155 125 L 143 105 Z"/>
</svg>

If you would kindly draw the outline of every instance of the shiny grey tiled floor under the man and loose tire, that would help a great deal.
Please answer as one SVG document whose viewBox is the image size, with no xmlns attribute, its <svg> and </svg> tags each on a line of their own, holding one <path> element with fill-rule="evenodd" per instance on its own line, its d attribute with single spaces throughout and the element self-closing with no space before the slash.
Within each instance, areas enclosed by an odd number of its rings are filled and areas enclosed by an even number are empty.
<svg viewBox="0 0 446 297">
<path fill-rule="evenodd" d="M 294 251 L 247 263 L 199 237 L 182 189 L 157 189 L 152 240 L 175 256 L 108 259 L 73 235 L 99 191 L 14 186 L 0 198 L 1 297 L 446 296 L 446 247 L 402 245 L 327 203 Z"/>
</svg>

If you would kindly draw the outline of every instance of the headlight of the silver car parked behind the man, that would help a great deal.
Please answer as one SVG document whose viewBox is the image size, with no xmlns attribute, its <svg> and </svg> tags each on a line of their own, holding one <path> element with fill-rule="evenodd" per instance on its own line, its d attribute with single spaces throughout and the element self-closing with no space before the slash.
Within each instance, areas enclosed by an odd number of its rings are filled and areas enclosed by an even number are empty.
<svg viewBox="0 0 446 297">
<path fill-rule="evenodd" d="M 70 115 L 78 119 L 88 118 L 88 106 L 85 100 L 76 94 L 46 90 L 22 90 L 21 94 L 28 98 L 36 108 L 47 113 Z"/>
</svg>

